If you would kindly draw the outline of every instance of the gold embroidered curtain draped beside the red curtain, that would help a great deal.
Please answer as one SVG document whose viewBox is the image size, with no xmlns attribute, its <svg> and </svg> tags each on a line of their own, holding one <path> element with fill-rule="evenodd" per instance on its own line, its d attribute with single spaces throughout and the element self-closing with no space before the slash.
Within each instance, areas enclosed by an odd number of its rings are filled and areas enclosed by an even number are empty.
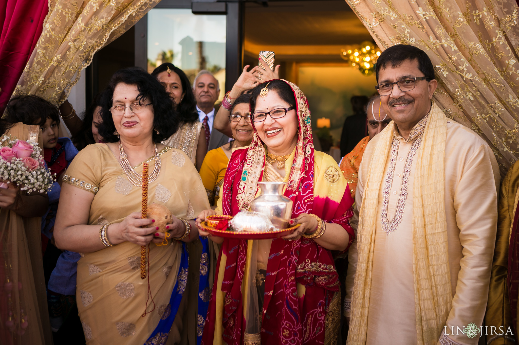
<svg viewBox="0 0 519 345">
<path fill-rule="evenodd" d="M 59 106 L 81 70 L 160 0 L 49 0 L 43 32 L 14 95 L 43 97 Z"/>
</svg>

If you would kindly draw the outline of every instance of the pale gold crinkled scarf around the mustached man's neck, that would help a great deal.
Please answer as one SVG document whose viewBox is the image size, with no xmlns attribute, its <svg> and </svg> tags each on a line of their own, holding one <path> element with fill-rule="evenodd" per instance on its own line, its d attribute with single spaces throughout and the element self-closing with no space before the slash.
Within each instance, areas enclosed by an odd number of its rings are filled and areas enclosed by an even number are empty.
<svg viewBox="0 0 519 345">
<path fill-rule="evenodd" d="M 365 344 L 379 190 L 393 140 L 391 122 L 368 169 L 357 234 L 358 263 L 351 300 L 348 345 Z M 447 118 L 434 102 L 416 158 L 413 185 L 413 276 L 418 344 L 436 344 L 452 307 L 445 219 Z"/>
</svg>

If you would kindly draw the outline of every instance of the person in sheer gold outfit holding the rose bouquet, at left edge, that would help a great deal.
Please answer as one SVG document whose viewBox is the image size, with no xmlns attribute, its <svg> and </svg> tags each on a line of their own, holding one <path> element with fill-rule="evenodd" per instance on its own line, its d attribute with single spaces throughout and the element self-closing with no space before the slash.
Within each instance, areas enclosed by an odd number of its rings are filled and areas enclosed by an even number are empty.
<svg viewBox="0 0 519 345">
<path fill-rule="evenodd" d="M 39 126 L 2 121 L 0 133 L 43 149 Z M 28 195 L 13 185 L 0 189 L 0 344 L 52 342 L 41 235 L 48 203 L 46 194 Z"/>
</svg>

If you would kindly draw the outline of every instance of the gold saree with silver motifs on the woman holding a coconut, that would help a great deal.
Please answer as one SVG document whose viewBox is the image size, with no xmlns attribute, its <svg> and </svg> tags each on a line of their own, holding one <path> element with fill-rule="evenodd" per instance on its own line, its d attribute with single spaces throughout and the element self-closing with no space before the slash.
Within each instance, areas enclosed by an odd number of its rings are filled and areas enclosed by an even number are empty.
<svg viewBox="0 0 519 345">
<path fill-rule="evenodd" d="M 166 147 L 160 151 L 160 159 L 162 170 L 148 185 L 148 203 L 161 203 L 176 217 L 185 219 L 193 219 L 209 208 L 205 189 L 189 158 L 180 150 Z M 149 164 L 152 171 L 153 161 Z M 142 173 L 142 164 L 135 171 Z M 79 152 L 63 180 L 95 193 L 89 224 L 120 222 L 141 210 L 141 188 L 128 181 L 105 144 L 89 145 Z M 143 344 L 159 321 L 175 312 L 169 304 L 175 284 L 177 291 L 185 290 L 187 270 L 179 272 L 181 254 L 182 245 L 177 241 L 170 240 L 167 246 L 151 244 L 148 275 L 155 310 L 144 317 L 148 282 L 140 278 L 140 246 L 125 242 L 81 254 L 76 298 L 87 343 Z M 147 308 L 152 309 L 153 304 Z M 174 323 L 169 337 L 180 340 L 180 332 L 181 326 Z M 160 336 L 163 340 L 168 333 Z"/>
</svg>

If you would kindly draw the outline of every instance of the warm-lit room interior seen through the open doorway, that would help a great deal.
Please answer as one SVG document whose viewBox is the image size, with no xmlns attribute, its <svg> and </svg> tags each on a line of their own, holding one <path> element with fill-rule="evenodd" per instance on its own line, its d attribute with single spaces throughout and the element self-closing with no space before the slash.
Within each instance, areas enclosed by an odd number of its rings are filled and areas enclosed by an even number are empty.
<svg viewBox="0 0 519 345">
<path fill-rule="evenodd" d="M 314 138 L 323 136 L 317 119 L 330 119 L 328 131 L 337 146 L 344 121 L 353 114 L 350 98 L 370 97 L 376 85 L 375 74 L 365 76 L 340 56 L 345 47 L 373 42 L 348 4 L 344 0 L 248 1 L 243 27 L 243 65 L 256 65 L 261 50 L 274 51 L 280 78 L 298 85 L 308 99 Z M 340 159 L 340 154 L 334 158 Z"/>
</svg>

